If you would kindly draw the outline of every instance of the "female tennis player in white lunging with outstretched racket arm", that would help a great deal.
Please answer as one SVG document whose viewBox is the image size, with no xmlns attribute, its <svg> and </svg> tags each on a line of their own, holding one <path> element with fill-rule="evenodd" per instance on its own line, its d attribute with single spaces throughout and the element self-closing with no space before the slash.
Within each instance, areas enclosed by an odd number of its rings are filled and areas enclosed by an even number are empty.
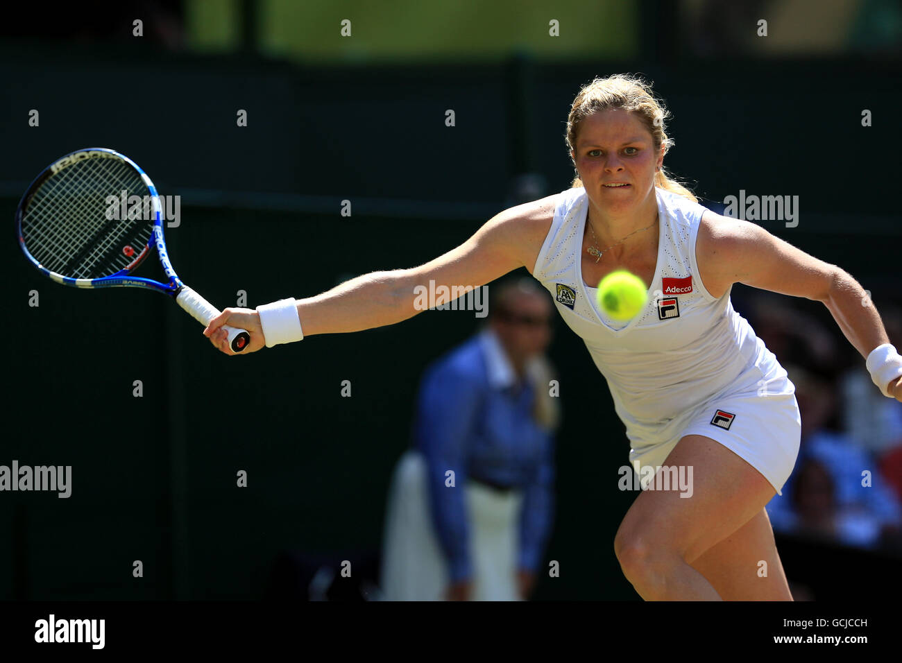
<svg viewBox="0 0 902 663">
<path fill-rule="evenodd" d="M 849 273 L 714 214 L 668 177 L 666 117 L 642 80 L 596 78 L 567 118 L 570 189 L 505 209 L 419 267 L 255 311 L 226 308 L 204 333 L 231 355 L 225 324 L 251 333 L 245 354 L 391 325 L 419 312 L 414 289 L 430 280 L 477 287 L 526 267 L 608 382 L 637 473 L 692 470 L 691 497 L 643 490 L 621 522 L 614 550 L 636 591 L 646 600 L 792 600 L 764 506 L 796 462 L 795 387 L 732 308 L 732 284 L 823 302 L 879 390 L 900 401 L 902 356 Z M 650 284 L 646 307 L 627 323 L 604 314 L 592 287 L 616 269 Z"/>
</svg>

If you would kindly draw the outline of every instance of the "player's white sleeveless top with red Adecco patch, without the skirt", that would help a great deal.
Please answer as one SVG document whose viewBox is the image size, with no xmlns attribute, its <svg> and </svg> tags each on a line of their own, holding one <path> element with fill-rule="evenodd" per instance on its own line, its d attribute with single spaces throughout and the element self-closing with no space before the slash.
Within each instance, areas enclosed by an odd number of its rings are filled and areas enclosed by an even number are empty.
<svg viewBox="0 0 902 663">
<path fill-rule="evenodd" d="M 664 189 L 655 192 L 658 263 L 649 301 L 629 322 L 608 318 L 598 306 L 597 290 L 583 282 L 585 189 L 559 194 L 533 270 L 566 324 L 584 340 L 630 438 L 653 436 L 661 424 L 730 385 L 750 385 L 754 391 L 762 377 L 785 375 L 777 357 L 732 308 L 732 288 L 714 299 L 698 278 L 695 238 L 705 208 Z"/>
</svg>

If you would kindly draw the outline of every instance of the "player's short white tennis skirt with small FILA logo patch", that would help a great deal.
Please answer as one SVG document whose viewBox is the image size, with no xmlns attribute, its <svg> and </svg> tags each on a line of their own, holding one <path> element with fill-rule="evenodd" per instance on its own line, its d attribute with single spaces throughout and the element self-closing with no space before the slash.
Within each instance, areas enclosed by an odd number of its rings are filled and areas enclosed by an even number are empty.
<svg viewBox="0 0 902 663">
<path fill-rule="evenodd" d="M 743 375 L 703 404 L 662 423 L 658 439 L 630 437 L 630 463 L 637 474 L 641 467 L 664 465 L 667 455 L 686 435 L 711 437 L 758 470 L 781 493 L 796 465 L 802 437 L 802 417 L 796 401 L 796 385 L 774 362 L 768 376 L 760 371 Z M 649 470 L 642 487 L 652 480 Z"/>
</svg>

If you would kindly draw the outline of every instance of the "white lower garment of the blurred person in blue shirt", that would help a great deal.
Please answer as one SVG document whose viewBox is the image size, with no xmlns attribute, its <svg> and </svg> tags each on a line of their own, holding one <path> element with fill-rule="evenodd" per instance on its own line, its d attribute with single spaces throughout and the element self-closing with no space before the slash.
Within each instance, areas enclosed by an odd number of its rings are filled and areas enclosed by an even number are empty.
<svg viewBox="0 0 902 663">
<path fill-rule="evenodd" d="M 446 490 L 460 490 L 446 488 Z M 475 601 L 517 601 L 517 557 L 523 493 L 497 493 L 479 483 L 463 488 L 469 519 Z M 416 450 L 400 457 L 389 489 L 382 542 L 386 601 L 441 601 L 450 583 L 426 486 L 426 462 Z"/>
</svg>

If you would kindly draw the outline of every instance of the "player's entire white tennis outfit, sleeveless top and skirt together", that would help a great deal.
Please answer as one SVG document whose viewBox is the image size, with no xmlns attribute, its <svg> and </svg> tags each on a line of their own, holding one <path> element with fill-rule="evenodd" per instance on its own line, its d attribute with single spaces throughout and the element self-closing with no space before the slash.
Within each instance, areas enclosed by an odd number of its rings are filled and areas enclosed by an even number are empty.
<svg viewBox="0 0 902 663">
<path fill-rule="evenodd" d="M 551 292 L 607 381 L 637 473 L 645 465 L 665 465 L 681 437 L 697 434 L 741 456 L 780 493 L 801 437 L 796 387 L 732 308 L 732 289 L 720 299 L 704 289 L 695 238 L 705 208 L 655 191 L 658 263 L 649 301 L 635 318 L 608 318 L 596 302 L 597 290 L 583 281 L 589 199 L 582 187 L 559 194 L 533 276 Z"/>
</svg>

